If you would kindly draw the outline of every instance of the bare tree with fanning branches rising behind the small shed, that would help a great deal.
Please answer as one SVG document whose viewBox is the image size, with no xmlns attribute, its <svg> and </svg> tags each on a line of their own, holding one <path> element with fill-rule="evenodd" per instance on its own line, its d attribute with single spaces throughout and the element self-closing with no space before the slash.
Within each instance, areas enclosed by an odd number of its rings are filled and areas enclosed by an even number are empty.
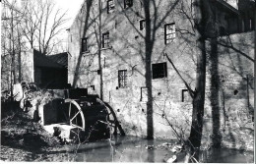
<svg viewBox="0 0 256 164">
<path fill-rule="evenodd" d="M 54 41 L 64 29 L 66 12 L 57 8 L 54 1 L 26 0 L 23 2 L 26 10 L 23 33 L 31 48 L 48 55 L 59 42 Z"/>
</svg>

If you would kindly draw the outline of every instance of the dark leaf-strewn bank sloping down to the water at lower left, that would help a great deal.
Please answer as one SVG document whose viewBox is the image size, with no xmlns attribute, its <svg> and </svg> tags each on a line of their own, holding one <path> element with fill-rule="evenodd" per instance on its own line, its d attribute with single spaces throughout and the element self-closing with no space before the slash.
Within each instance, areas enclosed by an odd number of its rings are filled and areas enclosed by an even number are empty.
<svg viewBox="0 0 256 164">
<path fill-rule="evenodd" d="M 58 139 L 46 133 L 18 104 L 1 104 L 1 160 L 34 161 L 58 146 Z"/>
</svg>

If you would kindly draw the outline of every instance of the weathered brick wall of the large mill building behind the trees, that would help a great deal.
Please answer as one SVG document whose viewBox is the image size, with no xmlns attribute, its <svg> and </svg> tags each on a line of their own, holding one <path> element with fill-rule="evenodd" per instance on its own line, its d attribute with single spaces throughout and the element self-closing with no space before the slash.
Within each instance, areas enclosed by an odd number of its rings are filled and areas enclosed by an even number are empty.
<svg viewBox="0 0 256 164">
<path fill-rule="evenodd" d="M 192 99 L 166 55 L 194 88 L 198 49 L 195 48 L 190 1 L 155 2 L 156 6 L 150 4 L 151 11 L 156 13 L 151 16 L 152 27 L 157 26 L 151 66 L 155 137 L 174 137 L 166 119 L 186 135 L 190 129 Z M 210 2 L 215 11 L 218 40 L 229 40 L 232 46 L 253 57 L 253 48 L 247 45 L 253 46 L 255 23 L 249 3 L 254 2 L 243 1 L 249 7 L 241 1 L 236 7 L 223 0 Z M 127 134 L 146 136 L 148 97 L 143 2 L 93 0 L 91 4 L 85 1 L 68 31 L 68 82 L 74 87 L 88 88 L 91 94 L 101 92 L 101 98 L 113 107 Z M 211 49 L 210 41 L 207 47 Z M 209 54 L 208 51 L 207 59 Z M 216 62 L 207 64 L 205 119 L 212 122 L 215 102 L 221 109 L 221 129 L 226 128 L 227 122 L 252 122 L 253 63 L 219 44 L 218 54 Z M 213 66 L 217 69 L 213 70 Z M 218 82 L 212 81 L 213 75 L 218 75 Z M 213 97 L 211 90 L 215 83 L 219 90 Z M 211 124 L 205 126 L 204 131 L 211 127 Z"/>
</svg>

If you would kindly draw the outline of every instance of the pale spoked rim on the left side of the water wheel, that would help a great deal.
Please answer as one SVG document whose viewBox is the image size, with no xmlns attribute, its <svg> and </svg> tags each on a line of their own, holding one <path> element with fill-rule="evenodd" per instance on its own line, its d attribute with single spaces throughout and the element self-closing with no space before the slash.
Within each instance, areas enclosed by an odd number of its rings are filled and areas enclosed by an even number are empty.
<svg viewBox="0 0 256 164">
<path fill-rule="evenodd" d="M 63 114 L 65 123 L 85 131 L 86 122 L 80 105 L 73 99 L 65 99 Z"/>
</svg>

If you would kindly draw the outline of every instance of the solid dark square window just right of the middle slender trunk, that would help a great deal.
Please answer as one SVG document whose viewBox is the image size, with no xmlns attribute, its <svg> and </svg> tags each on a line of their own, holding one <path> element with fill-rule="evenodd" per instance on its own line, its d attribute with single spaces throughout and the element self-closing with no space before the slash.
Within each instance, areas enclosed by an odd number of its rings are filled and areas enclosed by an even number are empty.
<svg viewBox="0 0 256 164">
<path fill-rule="evenodd" d="M 167 66 L 166 62 L 152 64 L 152 78 L 153 79 L 160 79 L 167 77 Z"/>
</svg>

